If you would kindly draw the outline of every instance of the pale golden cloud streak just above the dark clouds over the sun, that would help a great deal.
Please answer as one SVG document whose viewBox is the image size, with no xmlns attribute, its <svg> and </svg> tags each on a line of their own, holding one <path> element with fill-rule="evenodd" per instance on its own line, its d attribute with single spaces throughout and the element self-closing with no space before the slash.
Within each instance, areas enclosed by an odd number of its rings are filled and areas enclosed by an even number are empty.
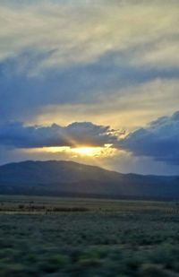
<svg viewBox="0 0 179 277">
<path fill-rule="evenodd" d="M 179 107 L 179 82 L 176 78 L 155 79 L 129 84 L 128 87 L 96 94 L 96 99 L 84 103 L 47 105 L 30 117 L 30 123 L 66 125 L 73 121 L 95 122 L 102 126 L 125 128 L 128 131 L 145 126 L 163 115 L 170 116 Z"/>
</svg>

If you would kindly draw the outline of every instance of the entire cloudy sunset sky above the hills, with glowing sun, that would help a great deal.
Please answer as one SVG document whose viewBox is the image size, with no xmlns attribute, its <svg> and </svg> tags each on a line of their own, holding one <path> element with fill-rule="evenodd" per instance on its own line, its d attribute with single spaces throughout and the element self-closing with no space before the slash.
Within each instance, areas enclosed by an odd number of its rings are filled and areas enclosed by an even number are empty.
<svg viewBox="0 0 179 277">
<path fill-rule="evenodd" d="M 0 0 L 0 164 L 179 174 L 178 0 Z"/>
</svg>

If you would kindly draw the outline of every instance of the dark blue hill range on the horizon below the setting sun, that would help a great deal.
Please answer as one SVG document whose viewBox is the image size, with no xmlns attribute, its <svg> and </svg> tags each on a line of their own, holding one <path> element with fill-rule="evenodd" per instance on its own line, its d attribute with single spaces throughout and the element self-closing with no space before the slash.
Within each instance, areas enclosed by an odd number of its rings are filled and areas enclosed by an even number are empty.
<svg viewBox="0 0 179 277">
<path fill-rule="evenodd" d="M 179 177 L 121 174 L 72 161 L 23 161 L 0 167 L 0 194 L 179 199 Z"/>
</svg>

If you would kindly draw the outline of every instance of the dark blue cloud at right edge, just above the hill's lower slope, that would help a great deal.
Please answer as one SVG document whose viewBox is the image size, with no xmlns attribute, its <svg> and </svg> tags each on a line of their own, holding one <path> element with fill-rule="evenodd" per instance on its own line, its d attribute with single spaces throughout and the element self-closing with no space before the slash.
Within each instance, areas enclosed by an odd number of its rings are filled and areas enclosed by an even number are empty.
<svg viewBox="0 0 179 277">
<path fill-rule="evenodd" d="M 172 117 L 160 117 L 146 128 L 128 134 L 118 146 L 135 156 L 151 157 L 168 164 L 179 165 L 179 112 Z"/>
</svg>

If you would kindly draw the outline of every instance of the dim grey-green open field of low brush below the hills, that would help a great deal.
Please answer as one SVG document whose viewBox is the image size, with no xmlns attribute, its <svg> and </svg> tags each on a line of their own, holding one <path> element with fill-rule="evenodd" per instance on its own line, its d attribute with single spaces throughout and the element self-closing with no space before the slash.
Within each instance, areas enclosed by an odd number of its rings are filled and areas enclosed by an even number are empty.
<svg viewBox="0 0 179 277">
<path fill-rule="evenodd" d="M 179 204 L 2 195 L 0 276 L 179 276 Z"/>
</svg>

